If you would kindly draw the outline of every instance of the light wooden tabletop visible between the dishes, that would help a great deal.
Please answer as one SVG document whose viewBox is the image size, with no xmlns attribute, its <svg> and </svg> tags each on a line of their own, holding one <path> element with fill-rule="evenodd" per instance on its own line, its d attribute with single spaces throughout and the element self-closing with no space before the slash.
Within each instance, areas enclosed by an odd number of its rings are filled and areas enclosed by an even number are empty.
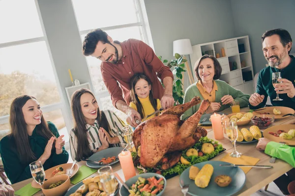
<svg viewBox="0 0 295 196">
<path fill-rule="evenodd" d="M 248 110 L 249 108 L 241 108 L 241 112 L 248 111 Z M 231 110 L 228 108 L 224 110 L 224 113 L 230 114 Z M 275 120 L 273 125 L 288 124 L 288 123 L 294 122 L 294 120 L 295 120 L 295 117 L 291 116 L 281 120 Z M 251 123 L 243 127 L 249 128 L 250 126 L 251 126 Z M 239 129 L 243 127 L 239 127 Z M 214 139 L 212 127 L 205 126 L 205 128 L 207 129 L 207 132 L 208 132 L 207 137 Z M 262 131 L 264 130 L 262 129 Z M 223 140 L 219 140 L 218 142 L 220 142 L 222 146 L 227 149 L 226 150 L 227 153 L 231 153 L 233 151 L 233 145 L 227 138 L 224 138 Z M 243 153 L 243 155 L 259 158 L 260 160 L 257 163 L 257 165 L 271 165 L 273 166 L 273 168 L 267 169 L 267 170 L 252 168 L 246 174 L 246 184 L 235 196 L 250 196 L 251 194 L 257 192 L 259 189 L 263 188 L 264 186 L 272 182 L 274 179 L 278 178 L 279 176 L 281 176 L 282 174 L 288 172 L 289 170 L 293 168 L 288 163 L 279 159 L 276 159 L 275 163 L 273 164 L 269 163 L 269 160 L 271 157 L 266 155 L 263 151 L 256 150 L 256 145 L 257 143 L 236 144 L 236 149 L 238 152 Z M 212 160 L 218 161 L 224 155 L 225 153 L 222 153 L 221 155 L 214 157 Z M 78 165 L 79 166 L 86 165 L 86 162 L 81 161 L 78 163 Z M 113 171 L 117 172 L 119 176 L 124 180 L 124 175 L 121 170 L 120 164 L 117 163 L 113 165 L 112 168 L 113 168 Z M 95 176 L 95 175 L 97 175 L 97 173 L 93 173 L 91 176 Z M 32 178 L 13 184 L 12 187 L 15 191 L 17 191 L 21 189 L 22 187 L 24 187 L 25 185 L 29 184 L 31 181 L 32 181 Z M 74 185 L 71 185 L 71 187 L 72 186 Z M 39 191 L 34 196 L 41 196 L 41 195 L 42 195 L 42 192 Z M 165 189 L 163 196 L 182 196 L 182 195 L 183 194 L 181 193 L 181 188 L 179 186 L 179 175 L 171 179 L 168 179 L 167 187 Z"/>
</svg>

